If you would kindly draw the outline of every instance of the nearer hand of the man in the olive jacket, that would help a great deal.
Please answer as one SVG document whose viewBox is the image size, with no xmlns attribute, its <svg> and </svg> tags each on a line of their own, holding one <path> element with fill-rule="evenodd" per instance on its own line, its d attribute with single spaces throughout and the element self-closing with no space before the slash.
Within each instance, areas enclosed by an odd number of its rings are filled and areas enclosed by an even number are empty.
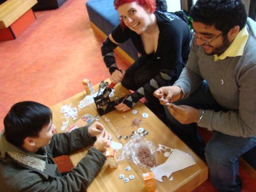
<svg viewBox="0 0 256 192">
<path fill-rule="evenodd" d="M 102 131 L 95 143 L 93 144 L 93 147 L 101 152 L 105 152 L 106 148 L 110 147 L 111 141 L 112 136 L 108 132 Z"/>
</svg>

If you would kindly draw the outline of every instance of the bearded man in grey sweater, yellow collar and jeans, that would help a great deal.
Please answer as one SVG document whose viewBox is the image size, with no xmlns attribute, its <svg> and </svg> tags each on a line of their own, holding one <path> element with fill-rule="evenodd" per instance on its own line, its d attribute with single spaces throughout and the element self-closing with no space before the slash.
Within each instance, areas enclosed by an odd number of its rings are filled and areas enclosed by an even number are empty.
<svg viewBox="0 0 256 192">
<path fill-rule="evenodd" d="M 171 130 L 207 161 L 218 191 L 241 191 L 238 158 L 256 145 L 256 23 L 242 0 L 198 0 L 190 15 L 187 65 L 154 95 Z M 213 131 L 206 147 L 197 126 Z"/>
</svg>

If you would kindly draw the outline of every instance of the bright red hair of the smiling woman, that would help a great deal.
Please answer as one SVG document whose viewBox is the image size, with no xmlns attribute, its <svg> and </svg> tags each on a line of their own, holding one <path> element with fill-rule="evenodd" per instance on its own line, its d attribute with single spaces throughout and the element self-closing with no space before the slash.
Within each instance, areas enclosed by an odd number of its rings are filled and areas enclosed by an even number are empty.
<svg viewBox="0 0 256 192">
<path fill-rule="evenodd" d="M 155 11 L 155 0 L 114 0 L 114 7 L 117 10 L 119 6 L 134 1 L 136 1 L 140 6 L 150 9 L 150 13 Z"/>
</svg>

